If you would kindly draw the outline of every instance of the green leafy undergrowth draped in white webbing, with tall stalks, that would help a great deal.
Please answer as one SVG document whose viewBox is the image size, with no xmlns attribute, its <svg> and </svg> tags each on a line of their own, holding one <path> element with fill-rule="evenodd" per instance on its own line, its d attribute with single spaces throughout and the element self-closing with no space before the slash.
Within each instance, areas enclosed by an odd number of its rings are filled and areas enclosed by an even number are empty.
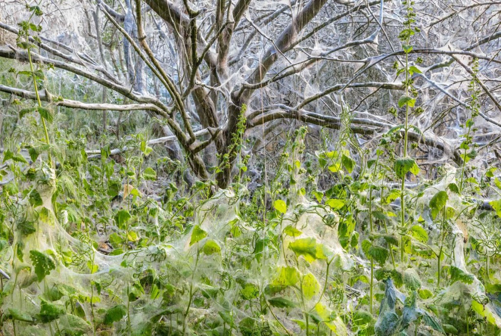
<svg viewBox="0 0 501 336">
<path fill-rule="evenodd" d="M 238 160 L 233 185 L 215 190 L 197 181 L 185 189 L 165 179 L 183 168 L 158 157 L 147 132 L 117 142 L 119 160 L 110 146 L 89 157 L 92 132 L 58 128 L 68 112 L 40 99 L 53 70 L 32 62 L 13 68 L 37 99 L 15 102 L 4 137 L 2 332 L 498 335 L 501 182 L 495 167 L 468 165 L 480 108 L 477 61 L 462 163 L 427 172 L 408 139 L 420 132 L 411 123 L 419 69 L 410 65 L 412 3 L 404 5 L 405 53 L 395 68 L 405 93 L 394 110 L 405 124 L 363 150 L 343 106 L 337 138 L 324 138 L 308 156 L 307 128 L 299 128 L 277 169 L 253 189 L 249 156 L 241 154 L 245 107 L 222 160 Z M 30 54 L 39 27 L 21 28 L 18 46 Z M 437 178 L 429 179 L 432 170 Z"/>
</svg>

